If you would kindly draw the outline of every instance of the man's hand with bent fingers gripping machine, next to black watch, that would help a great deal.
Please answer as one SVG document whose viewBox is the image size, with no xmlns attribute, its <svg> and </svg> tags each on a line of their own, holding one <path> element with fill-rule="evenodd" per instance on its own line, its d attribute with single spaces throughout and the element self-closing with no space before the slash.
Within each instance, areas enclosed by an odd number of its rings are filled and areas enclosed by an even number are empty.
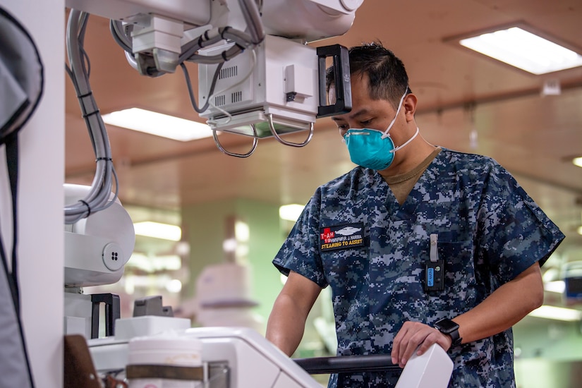
<svg viewBox="0 0 582 388">
<path fill-rule="evenodd" d="M 420 322 L 404 322 L 392 345 L 392 363 L 404 368 L 416 351 L 420 356 L 430 348 L 432 344 L 439 344 L 444 351 L 448 351 L 452 344 L 451 337 L 442 334 L 434 327 Z"/>
</svg>

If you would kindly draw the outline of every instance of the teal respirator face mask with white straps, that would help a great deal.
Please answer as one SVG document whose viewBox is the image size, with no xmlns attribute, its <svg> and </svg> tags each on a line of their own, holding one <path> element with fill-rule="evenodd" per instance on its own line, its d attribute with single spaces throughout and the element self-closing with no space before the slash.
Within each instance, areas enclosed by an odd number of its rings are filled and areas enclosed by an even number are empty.
<svg viewBox="0 0 582 388">
<path fill-rule="evenodd" d="M 348 129 L 344 135 L 344 140 L 348 146 L 350 159 L 353 163 L 372 170 L 387 169 L 394 160 L 394 152 L 400 150 L 402 147 L 416 138 L 416 135 L 418 135 L 418 127 L 416 128 L 416 133 L 414 133 L 410 139 L 406 140 L 406 143 L 400 145 L 399 147 L 394 147 L 394 142 L 388 133 L 396 121 L 396 117 L 398 116 L 402 107 L 404 97 L 406 97 L 406 92 L 404 92 L 404 95 L 400 99 L 400 103 L 398 104 L 398 109 L 396 110 L 394 119 L 386 131 L 382 132 L 378 131 L 377 129 L 370 128 Z"/>
</svg>

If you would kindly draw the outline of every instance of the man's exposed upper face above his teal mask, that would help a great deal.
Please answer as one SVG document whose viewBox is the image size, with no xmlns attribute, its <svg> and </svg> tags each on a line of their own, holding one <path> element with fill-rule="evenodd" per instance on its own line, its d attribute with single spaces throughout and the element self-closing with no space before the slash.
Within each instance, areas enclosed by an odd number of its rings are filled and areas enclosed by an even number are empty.
<svg viewBox="0 0 582 388">
<path fill-rule="evenodd" d="M 346 114 L 332 116 L 344 137 L 349 128 L 370 128 L 386 131 L 394 119 L 396 109 L 384 99 L 371 99 L 368 93 L 368 75 L 356 75 L 351 78 L 352 109 Z M 329 89 L 330 101 L 335 100 L 335 89 Z"/>
</svg>

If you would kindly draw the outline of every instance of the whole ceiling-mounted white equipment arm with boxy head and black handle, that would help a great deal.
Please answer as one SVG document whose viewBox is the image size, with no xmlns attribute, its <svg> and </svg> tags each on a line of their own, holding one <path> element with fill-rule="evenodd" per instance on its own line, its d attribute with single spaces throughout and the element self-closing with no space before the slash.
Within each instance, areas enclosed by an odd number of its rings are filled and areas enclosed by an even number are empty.
<svg viewBox="0 0 582 388">
<path fill-rule="evenodd" d="M 185 61 L 198 63 L 198 96 L 200 105 L 207 107 L 199 113 L 214 123 L 213 131 L 273 136 L 284 145 L 303 147 L 313 137 L 317 117 L 351 109 L 345 48 L 341 51 L 337 45 L 338 53 L 321 54 L 322 49 L 316 51 L 305 43 L 343 35 L 362 3 L 190 0 L 186 5 L 178 0 L 67 0 L 66 4 L 116 20 L 111 32 L 143 75 L 157 77 L 173 73 Z M 334 66 L 339 66 L 336 72 L 341 74 L 337 90 L 344 91 L 331 110 L 320 103 L 326 95 L 322 56 L 334 56 Z M 246 129 L 241 129 L 241 121 Z M 253 128 L 252 133 L 248 128 Z M 303 143 L 280 136 L 305 130 L 309 133 Z M 248 157 L 255 147 L 256 142 L 247 154 L 225 153 Z"/>
</svg>

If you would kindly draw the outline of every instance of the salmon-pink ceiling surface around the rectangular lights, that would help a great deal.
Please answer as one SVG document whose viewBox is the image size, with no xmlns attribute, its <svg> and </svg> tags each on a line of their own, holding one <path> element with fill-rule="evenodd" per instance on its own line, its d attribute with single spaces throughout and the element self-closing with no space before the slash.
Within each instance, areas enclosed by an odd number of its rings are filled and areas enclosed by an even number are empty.
<svg viewBox="0 0 582 388">
<path fill-rule="evenodd" d="M 575 228 L 582 224 L 582 169 L 569 158 L 582 155 L 582 69 L 535 76 L 449 42 L 516 20 L 582 47 L 582 4 L 566 0 L 365 0 L 346 35 L 311 45 L 383 42 L 406 64 L 419 97 L 423 136 L 433 144 L 497 159 L 564 230 L 564 246 L 579 249 L 582 236 Z M 90 18 L 85 48 L 102 113 L 142 107 L 203 121 L 190 105 L 184 75 L 138 75 L 109 35 L 107 20 Z M 188 68 L 197 90 L 196 65 Z M 546 80 L 557 80 L 562 94 L 542 97 Z M 66 181 L 89 184 L 95 158 L 70 82 L 66 113 Z M 473 128 L 476 145 L 469 140 Z M 316 123 L 313 140 L 303 148 L 262 139 L 246 159 L 222 154 L 212 139 L 181 143 L 112 126 L 108 131 L 120 198 L 140 207 L 176 211 L 228 198 L 305 203 L 318 185 L 353 166 L 329 119 Z M 303 141 L 304 136 L 289 138 Z M 233 152 L 251 145 L 244 136 L 219 138 Z"/>
</svg>

